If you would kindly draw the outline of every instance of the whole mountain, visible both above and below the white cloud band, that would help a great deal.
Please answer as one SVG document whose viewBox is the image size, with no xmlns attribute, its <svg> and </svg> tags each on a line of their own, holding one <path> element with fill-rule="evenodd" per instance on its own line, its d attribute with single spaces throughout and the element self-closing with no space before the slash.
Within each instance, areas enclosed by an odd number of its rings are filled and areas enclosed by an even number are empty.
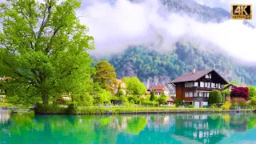
<svg viewBox="0 0 256 144">
<path fill-rule="evenodd" d="M 130 0 L 141 2 L 142 0 Z M 223 22 L 230 18 L 230 13 L 222 8 L 202 6 L 193 0 L 159 0 L 166 10 L 179 14 L 186 14 L 200 22 Z M 247 26 L 249 22 L 244 22 Z M 106 58 L 114 65 L 118 78 L 137 76 L 147 87 L 167 83 L 179 75 L 190 72 L 192 69 L 216 69 L 227 81 L 246 83 L 256 86 L 256 66 L 241 66 L 234 62 L 226 52 L 218 46 L 201 42 L 195 45 L 194 39 L 184 38 L 175 43 L 174 49 L 169 52 L 155 50 L 146 46 L 130 46 L 110 58 Z M 170 46 L 171 47 L 171 46 Z"/>
</svg>

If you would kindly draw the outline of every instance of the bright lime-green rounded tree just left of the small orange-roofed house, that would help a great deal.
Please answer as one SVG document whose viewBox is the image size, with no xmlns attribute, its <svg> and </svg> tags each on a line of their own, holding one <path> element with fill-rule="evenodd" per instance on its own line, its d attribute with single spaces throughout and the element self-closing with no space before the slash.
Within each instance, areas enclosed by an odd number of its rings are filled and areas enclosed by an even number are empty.
<svg viewBox="0 0 256 144">
<path fill-rule="evenodd" d="M 137 77 L 123 78 L 129 94 L 142 95 L 146 93 L 146 87 Z"/>
</svg>

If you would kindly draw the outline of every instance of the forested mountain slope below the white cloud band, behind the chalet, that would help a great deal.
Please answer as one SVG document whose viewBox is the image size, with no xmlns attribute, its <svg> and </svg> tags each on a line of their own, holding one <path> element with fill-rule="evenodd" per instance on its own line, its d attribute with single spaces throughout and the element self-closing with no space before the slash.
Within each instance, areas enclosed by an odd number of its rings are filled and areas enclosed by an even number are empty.
<svg viewBox="0 0 256 144">
<path fill-rule="evenodd" d="M 178 42 L 177 49 L 167 54 L 143 46 L 130 47 L 122 54 L 112 56 L 118 78 L 137 76 L 151 87 L 167 83 L 185 72 L 216 69 L 228 81 L 256 85 L 256 77 L 246 67 L 238 66 L 224 54 L 199 50 L 190 43 Z"/>
</svg>

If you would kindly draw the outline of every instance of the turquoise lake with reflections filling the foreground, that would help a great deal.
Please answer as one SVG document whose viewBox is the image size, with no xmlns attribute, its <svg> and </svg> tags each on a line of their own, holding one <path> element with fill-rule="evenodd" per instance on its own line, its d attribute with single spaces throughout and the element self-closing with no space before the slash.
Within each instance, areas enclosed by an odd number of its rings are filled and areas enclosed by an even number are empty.
<svg viewBox="0 0 256 144">
<path fill-rule="evenodd" d="M 256 114 L 0 114 L 0 143 L 256 143 Z"/>
</svg>

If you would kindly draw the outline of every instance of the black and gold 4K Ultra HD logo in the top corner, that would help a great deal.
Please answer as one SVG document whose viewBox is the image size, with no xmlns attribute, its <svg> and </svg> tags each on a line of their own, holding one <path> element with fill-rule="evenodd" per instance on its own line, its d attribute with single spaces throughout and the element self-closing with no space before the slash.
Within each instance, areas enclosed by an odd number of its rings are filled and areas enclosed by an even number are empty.
<svg viewBox="0 0 256 144">
<path fill-rule="evenodd" d="M 252 5 L 231 5 L 231 19 L 252 19 Z"/>
</svg>

